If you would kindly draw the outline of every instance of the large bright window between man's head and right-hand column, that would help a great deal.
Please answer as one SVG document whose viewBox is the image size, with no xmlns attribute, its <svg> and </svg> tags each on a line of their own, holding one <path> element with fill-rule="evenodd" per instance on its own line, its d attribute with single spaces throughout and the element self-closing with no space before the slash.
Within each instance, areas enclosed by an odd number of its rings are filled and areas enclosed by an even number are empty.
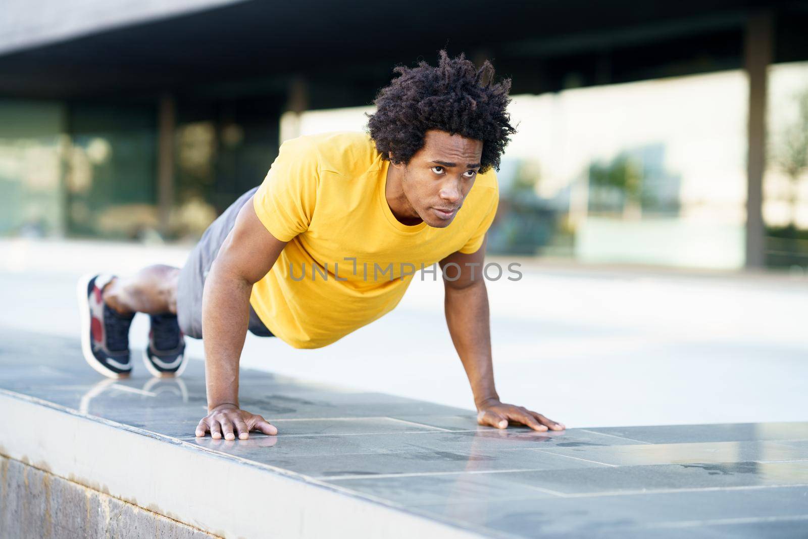
<svg viewBox="0 0 808 539">
<path fill-rule="evenodd" d="M 491 250 L 743 266 L 740 71 L 517 95 Z"/>
</svg>

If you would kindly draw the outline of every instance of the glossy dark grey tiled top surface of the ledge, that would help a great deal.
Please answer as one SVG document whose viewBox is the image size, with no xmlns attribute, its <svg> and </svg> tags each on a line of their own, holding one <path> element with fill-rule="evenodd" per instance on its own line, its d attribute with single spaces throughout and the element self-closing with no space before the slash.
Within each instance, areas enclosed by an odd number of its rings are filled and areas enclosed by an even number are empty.
<svg viewBox="0 0 808 539">
<path fill-rule="evenodd" d="M 471 411 L 242 373 L 278 436 L 196 439 L 204 369 L 107 381 L 78 342 L 0 330 L 0 389 L 304 474 L 492 537 L 808 537 L 808 422 L 478 427 Z M 135 351 L 135 357 L 139 357 Z"/>
</svg>

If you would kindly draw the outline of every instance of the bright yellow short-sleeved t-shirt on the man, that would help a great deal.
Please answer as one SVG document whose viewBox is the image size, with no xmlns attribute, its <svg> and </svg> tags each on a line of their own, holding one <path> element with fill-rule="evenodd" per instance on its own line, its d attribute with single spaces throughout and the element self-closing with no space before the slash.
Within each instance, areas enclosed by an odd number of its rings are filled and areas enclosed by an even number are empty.
<svg viewBox="0 0 808 539">
<path fill-rule="evenodd" d="M 255 193 L 255 213 L 288 243 L 253 286 L 250 305 L 293 347 L 323 347 L 380 318 L 422 264 L 482 245 L 499 203 L 494 171 L 477 176 L 454 221 L 439 229 L 393 216 L 388 167 L 364 133 L 299 137 L 280 146 Z"/>
</svg>

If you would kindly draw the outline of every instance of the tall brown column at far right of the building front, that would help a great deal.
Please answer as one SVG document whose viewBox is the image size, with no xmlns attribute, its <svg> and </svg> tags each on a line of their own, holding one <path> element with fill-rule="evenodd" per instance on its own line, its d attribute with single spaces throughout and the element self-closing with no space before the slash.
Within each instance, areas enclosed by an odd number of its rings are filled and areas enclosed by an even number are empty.
<svg viewBox="0 0 808 539">
<path fill-rule="evenodd" d="M 773 19 L 770 11 L 753 13 L 747 21 L 744 61 L 749 78 L 747 151 L 746 267 L 765 263 L 763 175 L 766 170 L 766 99 L 768 65 L 772 63 Z"/>
</svg>

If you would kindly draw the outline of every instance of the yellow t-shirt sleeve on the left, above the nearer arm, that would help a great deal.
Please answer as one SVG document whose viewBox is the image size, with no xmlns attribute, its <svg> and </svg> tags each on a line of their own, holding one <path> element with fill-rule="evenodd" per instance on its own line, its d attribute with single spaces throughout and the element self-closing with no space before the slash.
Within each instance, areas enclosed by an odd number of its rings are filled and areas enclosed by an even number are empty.
<svg viewBox="0 0 808 539">
<path fill-rule="evenodd" d="M 288 242 L 309 228 L 320 184 L 318 151 L 305 137 L 280 145 L 278 157 L 253 196 L 253 208 L 270 234 Z"/>
</svg>

